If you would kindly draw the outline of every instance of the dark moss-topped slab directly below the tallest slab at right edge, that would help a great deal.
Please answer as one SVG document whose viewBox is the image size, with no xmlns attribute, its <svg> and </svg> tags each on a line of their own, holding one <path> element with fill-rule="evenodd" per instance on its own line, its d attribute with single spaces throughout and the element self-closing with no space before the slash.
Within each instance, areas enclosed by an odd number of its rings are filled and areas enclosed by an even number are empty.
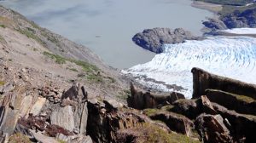
<svg viewBox="0 0 256 143">
<path fill-rule="evenodd" d="M 229 110 L 244 114 L 256 115 L 256 100 L 238 94 L 230 94 L 221 90 L 207 89 L 207 97 L 212 102 L 225 106 Z"/>
</svg>

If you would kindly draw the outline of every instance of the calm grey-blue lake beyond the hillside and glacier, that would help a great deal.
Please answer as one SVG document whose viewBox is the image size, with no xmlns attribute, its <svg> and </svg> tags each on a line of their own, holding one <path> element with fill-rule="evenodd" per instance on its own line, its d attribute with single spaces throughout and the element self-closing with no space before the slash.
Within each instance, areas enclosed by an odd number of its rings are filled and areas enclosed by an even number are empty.
<svg viewBox="0 0 256 143">
<path fill-rule="evenodd" d="M 154 54 L 138 47 L 131 37 L 154 27 L 183 27 L 201 35 L 201 20 L 211 17 L 190 0 L 7 0 L 39 26 L 81 43 L 116 68 L 152 60 Z"/>
</svg>

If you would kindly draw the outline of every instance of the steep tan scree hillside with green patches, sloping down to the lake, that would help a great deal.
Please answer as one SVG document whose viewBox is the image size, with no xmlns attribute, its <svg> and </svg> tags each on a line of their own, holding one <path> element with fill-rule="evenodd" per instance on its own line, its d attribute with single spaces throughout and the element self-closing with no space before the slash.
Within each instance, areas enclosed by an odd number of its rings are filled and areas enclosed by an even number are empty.
<svg viewBox="0 0 256 143">
<path fill-rule="evenodd" d="M 81 82 L 90 95 L 122 100 L 126 83 L 119 72 L 106 66 L 90 49 L 41 28 L 11 9 L 0 6 L 1 65 L 38 72 L 33 80 L 52 77 L 61 83 Z M 1 69 L 1 71 L 3 68 Z M 3 72 L 3 71 L 2 71 Z M 12 77 L 13 75 L 9 75 Z M 1 77 L 1 81 L 8 83 Z M 40 81 L 44 84 L 44 81 Z"/>
</svg>

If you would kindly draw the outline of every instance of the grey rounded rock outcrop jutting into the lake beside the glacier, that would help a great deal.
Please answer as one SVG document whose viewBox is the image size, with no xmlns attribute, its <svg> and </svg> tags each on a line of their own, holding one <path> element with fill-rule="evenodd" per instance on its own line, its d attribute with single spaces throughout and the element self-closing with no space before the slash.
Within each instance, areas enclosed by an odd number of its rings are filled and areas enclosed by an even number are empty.
<svg viewBox="0 0 256 143">
<path fill-rule="evenodd" d="M 182 28 L 171 30 L 169 28 L 153 28 L 146 29 L 143 32 L 137 33 L 132 37 L 132 41 L 156 54 L 162 53 L 163 44 L 166 43 L 183 43 L 185 40 L 198 40 L 200 37 L 193 36 L 189 31 L 184 31 Z"/>
</svg>

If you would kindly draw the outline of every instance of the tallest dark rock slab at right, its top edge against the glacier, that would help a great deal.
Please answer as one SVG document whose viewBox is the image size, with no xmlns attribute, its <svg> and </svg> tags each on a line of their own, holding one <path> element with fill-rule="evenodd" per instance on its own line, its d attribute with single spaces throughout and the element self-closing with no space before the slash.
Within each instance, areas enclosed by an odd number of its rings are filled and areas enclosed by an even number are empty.
<svg viewBox="0 0 256 143">
<path fill-rule="evenodd" d="M 242 94 L 256 100 L 256 85 L 221 77 L 199 68 L 193 68 L 193 98 L 207 94 L 207 89 L 218 89 L 232 94 Z"/>
</svg>

